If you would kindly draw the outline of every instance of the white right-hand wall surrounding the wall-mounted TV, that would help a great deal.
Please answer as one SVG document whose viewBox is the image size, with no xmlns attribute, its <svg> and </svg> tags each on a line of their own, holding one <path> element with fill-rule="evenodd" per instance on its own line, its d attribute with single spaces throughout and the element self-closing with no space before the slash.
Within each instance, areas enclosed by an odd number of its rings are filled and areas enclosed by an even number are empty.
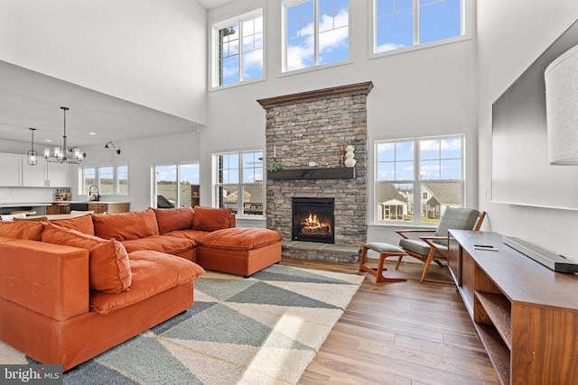
<svg viewBox="0 0 578 385">
<path fill-rule="evenodd" d="M 494 204 L 489 200 L 491 105 L 578 18 L 578 2 L 483 0 L 478 2 L 477 14 L 480 207 L 489 212 L 492 231 L 517 236 L 578 261 L 578 212 Z"/>
</svg>

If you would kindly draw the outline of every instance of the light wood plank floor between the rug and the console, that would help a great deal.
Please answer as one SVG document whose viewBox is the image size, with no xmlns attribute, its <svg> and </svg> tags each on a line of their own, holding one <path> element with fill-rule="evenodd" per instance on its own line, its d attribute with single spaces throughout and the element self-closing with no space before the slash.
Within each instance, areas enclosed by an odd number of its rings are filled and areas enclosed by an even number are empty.
<svg viewBox="0 0 578 385">
<path fill-rule="evenodd" d="M 375 284 L 366 275 L 300 384 L 499 384 L 447 268 L 404 262 Z M 357 264 L 284 258 L 281 264 L 358 273 Z"/>
</svg>

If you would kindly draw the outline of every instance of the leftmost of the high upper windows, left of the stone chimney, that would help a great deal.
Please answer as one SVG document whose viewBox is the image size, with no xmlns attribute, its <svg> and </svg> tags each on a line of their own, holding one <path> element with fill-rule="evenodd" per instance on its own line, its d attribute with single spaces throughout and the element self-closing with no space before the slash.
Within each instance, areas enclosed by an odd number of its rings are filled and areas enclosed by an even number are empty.
<svg viewBox="0 0 578 385">
<path fill-rule="evenodd" d="M 263 9 L 214 23 L 213 87 L 264 76 Z"/>
</svg>

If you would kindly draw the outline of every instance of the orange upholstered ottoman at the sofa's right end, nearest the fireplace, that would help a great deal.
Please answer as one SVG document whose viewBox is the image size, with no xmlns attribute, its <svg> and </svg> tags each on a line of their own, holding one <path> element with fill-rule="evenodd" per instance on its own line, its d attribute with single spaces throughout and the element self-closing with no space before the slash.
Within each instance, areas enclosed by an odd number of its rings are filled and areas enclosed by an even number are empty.
<svg viewBox="0 0 578 385">
<path fill-rule="evenodd" d="M 273 230 L 231 227 L 197 239 L 196 262 L 206 270 L 250 276 L 281 261 L 281 235 Z"/>
</svg>

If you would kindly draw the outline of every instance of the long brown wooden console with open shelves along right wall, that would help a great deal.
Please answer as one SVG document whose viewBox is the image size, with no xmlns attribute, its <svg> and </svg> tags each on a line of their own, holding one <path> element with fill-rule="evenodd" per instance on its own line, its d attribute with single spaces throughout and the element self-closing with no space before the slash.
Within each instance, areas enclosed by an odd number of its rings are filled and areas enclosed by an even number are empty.
<svg viewBox="0 0 578 385">
<path fill-rule="evenodd" d="M 549 270 L 496 233 L 450 230 L 448 262 L 503 384 L 578 383 L 578 275 Z"/>
</svg>

